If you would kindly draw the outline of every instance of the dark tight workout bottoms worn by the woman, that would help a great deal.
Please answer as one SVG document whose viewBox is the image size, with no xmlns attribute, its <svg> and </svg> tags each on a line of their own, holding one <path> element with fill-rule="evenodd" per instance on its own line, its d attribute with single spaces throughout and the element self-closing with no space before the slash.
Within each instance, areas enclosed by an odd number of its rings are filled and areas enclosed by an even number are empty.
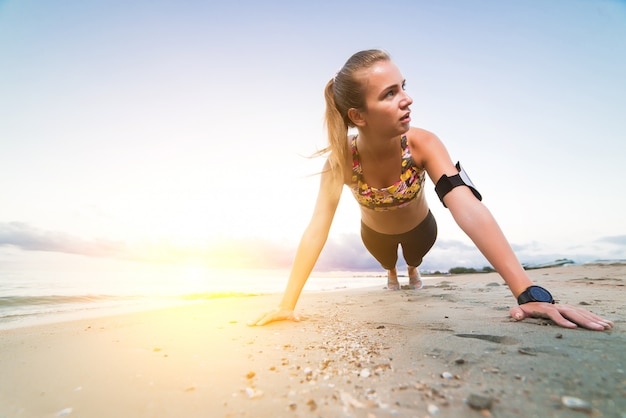
<svg viewBox="0 0 626 418">
<path fill-rule="evenodd" d="M 417 267 L 437 239 L 437 222 L 428 211 L 426 218 L 415 228 L 402 234 L 381 234 L 361 222 L 361 239 L 365 248 L 385 270 L 392 270 L 398 261 L 398 245 L 408 266 Z"/>
</svg>

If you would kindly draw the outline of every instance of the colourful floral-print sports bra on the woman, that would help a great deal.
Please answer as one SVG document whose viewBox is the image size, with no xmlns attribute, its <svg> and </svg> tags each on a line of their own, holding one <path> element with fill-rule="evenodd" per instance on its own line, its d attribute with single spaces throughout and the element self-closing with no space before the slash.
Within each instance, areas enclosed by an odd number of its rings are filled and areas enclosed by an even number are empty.
<svg viewBox="0 0 626 418">
<path fill-rule="evenodd" d="M 401 139 L 402 171 L 400 179 L 389 187 L 376 189 L 363 179 L 363 168 L 356 148 L 356 136 L 352 138 L 352 182 L 350 189 L 361 206 L 376 211 L 394 210 L 408 205 L 417 198 L 424 187 L 425 171 L 415 165 L 406 136 Z"/>
</svg>

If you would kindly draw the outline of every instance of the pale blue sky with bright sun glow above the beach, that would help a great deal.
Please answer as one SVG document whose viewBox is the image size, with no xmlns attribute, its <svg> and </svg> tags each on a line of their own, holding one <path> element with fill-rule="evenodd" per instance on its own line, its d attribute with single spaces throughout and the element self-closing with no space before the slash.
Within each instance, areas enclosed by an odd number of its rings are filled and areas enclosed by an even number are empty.
<svg viewBox="0 0 626 418">
<path fill-rule="evenodd" d="M 626 258 L 626 2 L 0 0 L 0 260 L 288 268 L 323 88 L 387 50 L 518 258 Z M 487 265 L 439 203 L 425 269 Z M 345 189 L 318 269 L 369 270 Z"/>
</svg>

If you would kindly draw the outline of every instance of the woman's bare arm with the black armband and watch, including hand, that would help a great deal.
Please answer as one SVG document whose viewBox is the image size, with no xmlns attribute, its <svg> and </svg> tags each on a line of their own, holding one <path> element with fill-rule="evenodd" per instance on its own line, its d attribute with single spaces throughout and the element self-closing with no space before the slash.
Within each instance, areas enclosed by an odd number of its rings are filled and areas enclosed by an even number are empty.
<svg viewBox="0 0 626 418">
<path fill-rule="evenodd" d="M 422 162 L 433 183 L 444 174 L 457 174 L 441 141 L 429 132 L 417 131 L 412 141 L 414 159 L 417 157 L 416 161 Z M 453 188 L 443 200 L 456 223 L 502 276 L 515 298 L 533 284 L 491 212 L 468 187 Z M 591 312 L 561 304 L 529 302 L 512 308 L 510 314 L 517 320 L 531 316 L 545 317 L 566 328 L 575 328 L 578 324 L 589 329 L 604 330 L 612 326 L 611 321 Z"/>
</svg>

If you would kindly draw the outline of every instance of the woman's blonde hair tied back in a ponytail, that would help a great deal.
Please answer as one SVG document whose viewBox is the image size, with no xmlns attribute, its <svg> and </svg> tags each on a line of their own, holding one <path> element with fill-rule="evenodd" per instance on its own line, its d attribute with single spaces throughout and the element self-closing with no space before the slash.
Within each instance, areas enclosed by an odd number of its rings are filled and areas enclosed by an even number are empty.
<svg viewBox="0 0 626 418">
<path fill-rule="evenodd" d="M 328 130 L 328 146 L 315 155 L 330 153 L 328 161 L 331 170 L 343 173 L 346 160 L 350 155 L 347 141 L 348 128 L 354 124 L 348 117 L 348 110 L 354 108 L 365 110 L 366 83 L 359 72 L 370 68 L 379 61 L 389 61 L 391 57 L 385 51 L 369 49 L 352 55 L 341 70 L 333 77 L 324 89 L 326 99 L 325 122 Z"/>
</svg>

